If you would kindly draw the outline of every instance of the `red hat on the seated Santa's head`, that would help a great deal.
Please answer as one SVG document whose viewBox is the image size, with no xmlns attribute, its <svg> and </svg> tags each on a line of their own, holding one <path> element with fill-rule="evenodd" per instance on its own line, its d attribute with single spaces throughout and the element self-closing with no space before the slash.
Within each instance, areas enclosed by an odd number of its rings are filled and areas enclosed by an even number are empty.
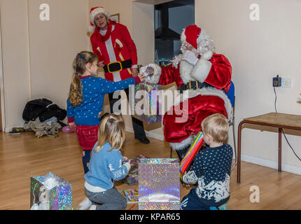
<svg viewBox="0 0 301 224">
<path fill-rule="evenodd" d="M 200 37 L 202 29 L 197 25 L 189 25 L 181 34 L 181 42 L 189 43 L 193 48 L 197 49 L 197 45 L 200 43 L 198 39 Z"/>
</svg>

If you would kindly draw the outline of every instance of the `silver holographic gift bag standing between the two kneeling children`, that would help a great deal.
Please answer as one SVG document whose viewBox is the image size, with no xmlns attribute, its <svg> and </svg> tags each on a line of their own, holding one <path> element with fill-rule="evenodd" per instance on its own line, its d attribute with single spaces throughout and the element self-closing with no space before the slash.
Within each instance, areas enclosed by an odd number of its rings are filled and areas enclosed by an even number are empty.
<svg viewBox="0 0 301 224">
<path fill-rule="evenodd" d="M 139 162 L 139 210 L 179 210 L 178 159 L 141 159 Z"/>
</svg>

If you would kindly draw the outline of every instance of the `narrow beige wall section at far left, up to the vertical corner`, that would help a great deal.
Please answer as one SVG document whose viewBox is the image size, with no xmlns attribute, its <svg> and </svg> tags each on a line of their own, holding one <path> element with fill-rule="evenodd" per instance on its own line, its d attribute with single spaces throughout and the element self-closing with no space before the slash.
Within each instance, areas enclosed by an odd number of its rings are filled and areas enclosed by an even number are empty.
<svg viewBox="0 0 301 224">
<path fill-rule="evenodd" d="M 22 110 L 30 95 L 27 1 L 1 0 L 0 8 L 3 123 L 6 127 L 22 127 Z"/>
</svg>

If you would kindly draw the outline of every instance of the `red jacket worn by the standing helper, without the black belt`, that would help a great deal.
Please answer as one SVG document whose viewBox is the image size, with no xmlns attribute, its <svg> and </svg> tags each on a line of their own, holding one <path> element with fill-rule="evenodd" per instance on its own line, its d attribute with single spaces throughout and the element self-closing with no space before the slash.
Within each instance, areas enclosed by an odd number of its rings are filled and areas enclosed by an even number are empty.
<svg viewBox="0 0 301 224">
<path fill-rule="evenodd" d="M 104 61 L 104 64 L 110 63 L 109 52 L 106 46 L 106 41 L 108 41 L 110 37 L 117 61 L 122 62 L 123 60 L 132 59 L 132 65 L 137 64 L 137 49 L 130 36 L 130 32 L 125 25 L 111 20 L 109 20 L 109 27 L 105 36 L 99 33 L 99 27 L 97 27 L 90 37 L 92 50 L 94 54 L 98 56 L 99 62 Z M 107 72 L 105 76 L 107 80 L 113 81 L 112 73 Z M 121 80 L 132 78 L 131 68 L 121 70 L 120 78 Z"/>
</svg>

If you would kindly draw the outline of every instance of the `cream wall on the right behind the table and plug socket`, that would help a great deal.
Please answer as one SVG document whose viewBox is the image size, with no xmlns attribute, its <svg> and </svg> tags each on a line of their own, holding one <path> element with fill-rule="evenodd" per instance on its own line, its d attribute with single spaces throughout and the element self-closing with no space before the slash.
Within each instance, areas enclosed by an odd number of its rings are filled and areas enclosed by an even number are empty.
<svg viewBox="0 0 301 224">
<path fill-rule="evenodd" d="M 260 6 L 260 21 L 251 21 L 251 3 Z M 274 112 L 272 77 L 293 78 L 293 88 L 276 88 L 280 113 L 300 115 L 301 2 L 297 0 L 196 0 L 195 21 L 214 38 L 216 51 L 233 67 L 236 130 L 243 118 Z M 290 132 L 291 133 L 291 132 Z M 301 133 L 288 135 L 301 156 Z M 282 139 L 283 169 L 301 174 L 301 162 Z M 242 130 L 243 159 L 270 167 L 278 160 L 278 134 Z M 259 158 L 259 159 L 258 159 Z M 293 169 L 293 171 L 292 171 Z"/>
</svg>

